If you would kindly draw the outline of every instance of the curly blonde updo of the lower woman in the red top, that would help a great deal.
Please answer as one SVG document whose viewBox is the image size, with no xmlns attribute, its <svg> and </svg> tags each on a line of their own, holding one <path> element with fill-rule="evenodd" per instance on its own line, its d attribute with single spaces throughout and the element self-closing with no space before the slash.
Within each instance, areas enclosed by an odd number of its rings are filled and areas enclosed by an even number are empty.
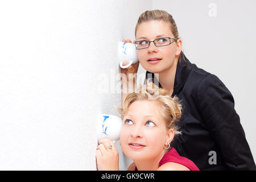
<svg viewBox="0 0 256 182">
<path fill-rule="evenodd" d="M 150 80 L 147 80 L 146 85 L 140 86 L 135 93 L 127 94 L 122 103 L 122 108 L 116 108 L 123 118 L 133 102 L 144 100 L 156 101 L 160 107 L 159 110 L 162 113 L 162 117 L 164 118 L 164 121 L 166 121 L 167 129 L 173 129 L 175 135 L 181 134 L 176 126 L 176 122 L 179 121 L 181 117 L 181 104 L 179 103 L 178 98 L 176 96 L 172 98 L 167 90 L 159 88 Z"/>
</svg>

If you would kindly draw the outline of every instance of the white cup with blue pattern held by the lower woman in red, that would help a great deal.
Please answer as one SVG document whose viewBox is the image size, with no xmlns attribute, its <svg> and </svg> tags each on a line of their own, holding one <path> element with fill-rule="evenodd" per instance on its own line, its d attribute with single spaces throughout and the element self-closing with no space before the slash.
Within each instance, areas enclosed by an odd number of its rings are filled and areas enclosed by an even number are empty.
<svg viewBox="0 0 256 182">
<path fill-rule="evenodd" d="M 119 140 L 122 119 L 110 114 L 99 114 L 97 125 L 97 139 L 108 138 L 113 142 Z"/>
</svg>

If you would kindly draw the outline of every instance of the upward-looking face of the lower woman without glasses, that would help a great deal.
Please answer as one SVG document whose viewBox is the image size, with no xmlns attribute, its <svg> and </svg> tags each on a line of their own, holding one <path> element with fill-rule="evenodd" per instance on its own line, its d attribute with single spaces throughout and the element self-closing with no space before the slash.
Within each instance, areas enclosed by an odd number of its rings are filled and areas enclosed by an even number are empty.
<svg viewBox="0 0 256 182">
<path fill-rule="evenodd" d="M 171 142 L 174 130 L 166 122 L 156 101 L 135 101 L 123 118 L 120 143 L 123 153 L 133 160 L 157 159 L 164 144 Z"/>
</svg>

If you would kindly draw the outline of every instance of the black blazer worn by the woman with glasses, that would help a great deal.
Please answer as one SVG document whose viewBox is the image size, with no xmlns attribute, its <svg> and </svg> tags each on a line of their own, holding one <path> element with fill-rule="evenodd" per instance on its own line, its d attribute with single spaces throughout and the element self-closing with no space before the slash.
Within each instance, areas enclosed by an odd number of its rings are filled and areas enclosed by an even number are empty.
<svg viewBox="0 0 256 182">
<path fill-rule="evenodd" d="M 162 87 L 154 73 L 146 72 L 148 78 Z M 233 96 L 217 76 L 197 68 L 184 56 L 177 64 L 174 96 L 183 106 L 177 122 L 182 134 L 171 146 L 181 156 L 200 170 L 256 170 Z"/>
</svg>

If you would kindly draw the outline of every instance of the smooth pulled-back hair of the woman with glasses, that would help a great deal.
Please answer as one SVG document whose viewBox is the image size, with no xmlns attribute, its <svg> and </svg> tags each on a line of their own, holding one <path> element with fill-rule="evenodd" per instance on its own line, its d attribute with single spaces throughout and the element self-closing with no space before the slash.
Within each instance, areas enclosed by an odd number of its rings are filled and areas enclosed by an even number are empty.
<svg viewBox="0 0 256 182">
<path fill-rule="evenodd" d="M 135 37 L 136 37 L 136 32 L 138 30 L 139 25 L 143 22 L 150 22 L 152 20 L 163 20 L 164 22 L 169 23 L 171 32 L 174 35 L 174 38 L 180 39 L 179 32 L 177 31 L 177 25 L 174 18 L 172 18 L 172 15 L 168 14 L 164 10 L 148 10 L 142 13 L 139 16 L 138 22 L 135 27 Z M 184 59 L 183 51 L 180 52 L 179 61 L 181 61 L 181 59 Z"/>
</svg>

